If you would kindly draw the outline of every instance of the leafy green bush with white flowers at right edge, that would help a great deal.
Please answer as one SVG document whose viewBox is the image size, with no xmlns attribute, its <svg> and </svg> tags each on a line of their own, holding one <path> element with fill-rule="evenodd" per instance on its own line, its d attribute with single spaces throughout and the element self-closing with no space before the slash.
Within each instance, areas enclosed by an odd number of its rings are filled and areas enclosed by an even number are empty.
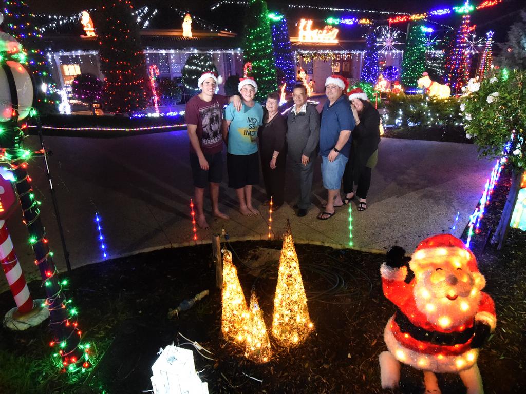
<svg viewBox="0 0 526 394">
<path fill-rule="evenodd" d="M 526 168 L 525 83 L 524 70 L 495 70 L 478 90 L 462 97 L 460 105 L 466 135 L 478 144 L 481 155 L 498 158 L 504 147 L 509 148 L 508 162 L 515 170 Z"/>
</svg>

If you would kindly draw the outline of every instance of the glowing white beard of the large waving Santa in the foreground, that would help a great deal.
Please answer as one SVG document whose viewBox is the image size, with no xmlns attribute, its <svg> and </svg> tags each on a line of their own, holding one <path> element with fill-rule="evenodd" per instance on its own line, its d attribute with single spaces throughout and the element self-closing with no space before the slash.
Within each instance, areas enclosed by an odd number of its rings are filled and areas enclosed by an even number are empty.
<svg viewBox="0 0 526 394">
<path fill-rule="evenodd" d="M 457 298 L 451 300 L 447 295 L 456 295 Z M 481 294 L 472 281 L 454 286 L 445 282 L 432 283 L 429 275 L 424 274 L 416 279 L 413 296 L 418 310 L 431 324 L 448 330 L 474 318 Z"/>
</svg>

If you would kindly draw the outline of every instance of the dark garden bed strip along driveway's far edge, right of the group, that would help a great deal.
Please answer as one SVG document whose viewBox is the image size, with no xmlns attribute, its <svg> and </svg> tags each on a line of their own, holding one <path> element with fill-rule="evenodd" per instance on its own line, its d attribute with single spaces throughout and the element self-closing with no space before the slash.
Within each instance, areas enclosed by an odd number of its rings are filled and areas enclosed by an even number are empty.
<svg viewBox="0 0 526 394">
<path fill-rule="evenodd" d="M 464 132 L 462 128 L 457 129 L 449 127 L 385 127 L 382 137 L 409 140 L 473 143 L 473 140 L 466 138 L 466 132 Z"/>
</svg>

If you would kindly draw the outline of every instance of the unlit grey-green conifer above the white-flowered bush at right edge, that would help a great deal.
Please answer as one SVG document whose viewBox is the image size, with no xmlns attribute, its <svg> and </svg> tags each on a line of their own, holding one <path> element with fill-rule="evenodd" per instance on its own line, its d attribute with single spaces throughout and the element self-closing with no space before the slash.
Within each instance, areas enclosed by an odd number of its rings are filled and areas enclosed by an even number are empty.
<svg viewBox="0 0 526 394">
<path fill-rule="evenodd" d="M 496 63 L 510 69 L 526 69 L 526 12 L 521 11 L 521 19 L 511 25 L 508 40 L 499 44 L 501 55 Z"/>
</svg>

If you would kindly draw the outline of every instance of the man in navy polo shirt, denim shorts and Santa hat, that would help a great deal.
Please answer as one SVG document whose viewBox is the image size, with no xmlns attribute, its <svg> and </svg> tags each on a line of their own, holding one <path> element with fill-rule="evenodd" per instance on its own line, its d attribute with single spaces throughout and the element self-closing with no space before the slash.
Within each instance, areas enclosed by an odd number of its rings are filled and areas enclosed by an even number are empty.
<svg viewBox="0 0 526 394">
<path fill-rule="evenodd" d="M 327 189 L 327 205 L 318 219 L 327 220 L 335 214 L 335 206 L 343 205 L 340 196 L 341 178 L 351 152 L 351 131 L 355 128 L 349 99 L 343 94 L 349 82 L 341 75 L 331 75 L 325 81 L 328 100 L 323 105 L 320 122 L 321 178 Z"/>
</svg>

